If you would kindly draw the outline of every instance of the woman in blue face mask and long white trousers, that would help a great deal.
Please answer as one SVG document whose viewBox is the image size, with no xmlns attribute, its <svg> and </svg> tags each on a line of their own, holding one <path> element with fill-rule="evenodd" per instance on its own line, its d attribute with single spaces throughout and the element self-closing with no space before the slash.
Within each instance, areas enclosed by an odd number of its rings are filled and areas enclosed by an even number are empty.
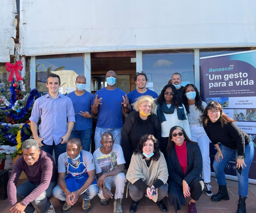
<svg viewBox="0 0 256 213">
<path fill-rule="evenodd" d="M 206 103 L 202 101 L 200 94 L 194 84 L 187 84 L 184 88 L 184 105 L 190 124 L 191 140 L 198 143 L 203 157 L 203 179 L 206 187 L 206 195 L 212 195 L 210 182 L 210 157 L 209 138 L 204 131 L 200 116 L 203 113 Z"/>
</svg>

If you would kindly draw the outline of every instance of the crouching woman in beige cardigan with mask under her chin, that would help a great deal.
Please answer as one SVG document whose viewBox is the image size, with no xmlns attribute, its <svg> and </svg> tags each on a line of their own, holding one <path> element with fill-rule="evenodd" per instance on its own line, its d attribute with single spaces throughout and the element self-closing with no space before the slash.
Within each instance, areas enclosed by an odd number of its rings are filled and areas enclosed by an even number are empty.
<svg viewBox="0 0 256 213">
<path fill-rule="evenodd" d="M 137 211 L 139 200 L 144 194 L 159 206 L 161 212 L 167 212 L 162 202 L 168 191 L 167 166 L 164 154 L 160 152 L 159 143 L 153 135 L 140 138 L 137 149 L 133 152 L 126 179 L 129 181 L 127 188 L 133 200 L 130 213 Z"/>
</svg>

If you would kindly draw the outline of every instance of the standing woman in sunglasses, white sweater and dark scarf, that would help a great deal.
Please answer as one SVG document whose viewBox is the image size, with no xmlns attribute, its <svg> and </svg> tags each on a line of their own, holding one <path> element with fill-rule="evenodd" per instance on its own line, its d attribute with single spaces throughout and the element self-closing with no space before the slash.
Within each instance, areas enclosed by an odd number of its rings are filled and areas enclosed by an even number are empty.
<svg viewBox="0 0 256 213">
<path fill-rule="evenodd" d="M 189 138 L 190 126 L 187 119 L 187 112 L 181 99 L 177 96 L 177 89 L 172 84 L 167 84 L 162 89 L 158 99 L 156 100 L 156 114 L 161 123 L 161 151 L 165 153 L 168 137 L 171 127 L 181 126 Z"/>
</svg>

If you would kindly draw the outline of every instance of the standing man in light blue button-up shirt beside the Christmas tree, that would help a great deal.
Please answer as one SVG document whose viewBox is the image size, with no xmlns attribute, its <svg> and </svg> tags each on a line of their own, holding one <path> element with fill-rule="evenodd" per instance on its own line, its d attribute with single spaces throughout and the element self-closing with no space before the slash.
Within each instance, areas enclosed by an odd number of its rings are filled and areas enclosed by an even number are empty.
<svg viewBox="0 0 256 213">
<path fill-rule="evenodd" d="M 58 75 L 49 74 L 46 86 L 49 93 L 34 102 L 30 117 L 31 131 L 42 151 L 52 155 L 54 149 L 57 166 L 59 155 L 66 152 L 66 142 L 75 123 L 75 113 L 71 99 L 59 94 Z M 37 130 L 39 118 L 41 118 L 40 136 Z"/>
</svg>

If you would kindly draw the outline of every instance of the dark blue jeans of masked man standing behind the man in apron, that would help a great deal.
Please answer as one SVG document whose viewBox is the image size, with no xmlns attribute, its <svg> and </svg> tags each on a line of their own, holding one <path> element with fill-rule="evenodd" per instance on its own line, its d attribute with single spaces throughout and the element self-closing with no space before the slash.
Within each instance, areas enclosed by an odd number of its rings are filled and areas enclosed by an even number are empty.
<svg viewBox="0 0 256 213">
<path fill-rule="evenodd" d="M 87 130 L 72 130 L 69 136 L 69 140 L 71 138 L 79 138 L 81 141 L 81 145 L 83 147 L 82 149 L 90 152 L 91 134 L 92 134 L 92 128 Z"/>
</svg>

